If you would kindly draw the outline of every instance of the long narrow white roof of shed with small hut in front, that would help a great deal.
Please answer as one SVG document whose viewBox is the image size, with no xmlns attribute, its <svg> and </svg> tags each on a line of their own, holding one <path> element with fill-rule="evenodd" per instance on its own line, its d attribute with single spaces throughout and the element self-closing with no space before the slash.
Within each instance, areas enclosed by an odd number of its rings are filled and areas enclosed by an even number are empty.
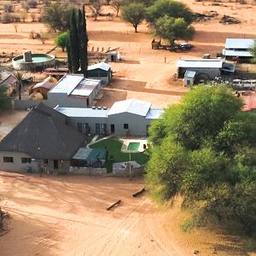
<svg viewBox="0 0 256 256">
<path fill-rule="evenodd" d="M 219 59 L 183 59 L 177 60 L 177 67 L 213 67 L 221 68 L 223 60 Z"/>
</svg>

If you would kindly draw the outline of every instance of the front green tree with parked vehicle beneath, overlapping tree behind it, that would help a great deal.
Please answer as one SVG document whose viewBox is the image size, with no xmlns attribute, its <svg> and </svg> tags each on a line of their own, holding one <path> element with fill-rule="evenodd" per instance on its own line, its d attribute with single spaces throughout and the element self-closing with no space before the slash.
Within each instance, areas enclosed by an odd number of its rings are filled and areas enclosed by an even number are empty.
<svg viewBox="0 0 256 256">
<path fill-rule="evenodd" d="M 167 15 L 155 20 L 154 33 L 160 38 L 167 39 L 171 46 L 177 39 L 191 40 L 195 35 L 193 26 L 188 26 L 183 18 L 172 18 Z"/>
</svg>

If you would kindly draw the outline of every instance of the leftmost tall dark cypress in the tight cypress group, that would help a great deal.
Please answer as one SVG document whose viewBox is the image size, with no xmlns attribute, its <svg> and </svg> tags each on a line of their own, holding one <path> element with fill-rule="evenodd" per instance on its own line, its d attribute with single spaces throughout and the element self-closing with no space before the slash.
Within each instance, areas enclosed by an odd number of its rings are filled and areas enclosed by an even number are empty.
<svg viewBox="0 0 256 256">
<path fill-rule="evenodd" d="M 79 61 L 79 34 L 78 34 L 78 26 L 76 20 L 76 11 L 73 9 L 71 15 L 71 26 L 69 32 L 69 53 L 70 63 L 71 63 L 71 72 L 78 73 L 80 67 Z"/>
</svg>

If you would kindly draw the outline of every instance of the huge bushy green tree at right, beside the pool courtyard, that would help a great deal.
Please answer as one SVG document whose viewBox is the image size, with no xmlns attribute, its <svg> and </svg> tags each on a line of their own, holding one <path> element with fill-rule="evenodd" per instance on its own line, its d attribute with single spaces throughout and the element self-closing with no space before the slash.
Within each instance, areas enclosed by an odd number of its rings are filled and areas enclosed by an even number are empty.
<svg viewBox="0 0 256 256">
<path fill-rule="evenodd" d="M 150 128 L 146 179 L 159 201 L 182 194 L 195 223 L 238 221 L 253 235 L 256 116 L 241 108 L 241 99 L 223 85 L 199 86 L 166 108 Z"/>
</svg>

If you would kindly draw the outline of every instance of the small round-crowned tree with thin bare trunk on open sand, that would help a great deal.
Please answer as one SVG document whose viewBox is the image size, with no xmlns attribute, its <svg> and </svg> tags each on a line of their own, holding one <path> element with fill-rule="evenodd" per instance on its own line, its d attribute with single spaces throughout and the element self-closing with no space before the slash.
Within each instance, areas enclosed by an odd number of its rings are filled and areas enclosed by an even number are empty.
<svg viewBox="0 0 256 256">
<path fill-rule="evenodd" d="M 145 18 L 145 8 L 142 3 L 129 3 L 122 6 L 122 18 L 131 23 L 137 32 L 137 26 L 142 23 Z"/>
</svg>

